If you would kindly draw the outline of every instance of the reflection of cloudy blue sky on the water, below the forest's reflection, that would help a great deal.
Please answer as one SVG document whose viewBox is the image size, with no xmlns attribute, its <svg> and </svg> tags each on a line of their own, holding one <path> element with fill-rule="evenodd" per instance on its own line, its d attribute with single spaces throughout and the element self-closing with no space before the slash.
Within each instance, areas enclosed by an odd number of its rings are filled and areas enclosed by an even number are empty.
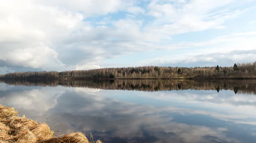
<svg viewBox="0 0 256 143">
<path fill-rule="evenodd" d="M 127 94 L 131 95 L 129 101 L 121 98 Z M 39 119 L 38 116 L 44 115 L 47 118 L 44 121 L 60 131 L 58 134 L 84 132 L 85 129 L 86 134 L 96 133 L 95 139 L 101 138 L 105 143 L 255 142 L 255 131 L 252 128 L 256 126 L 248 124 L 256 119 L 254 114 L 249 114 L 255 106 L 245 102 L 255 101 L 255 96 L 224 94 L 193 90 L 190 93 L 127 93 L 59 86 L 14 87 L 1 92 L 0 104 L 22 110 L 28 117 L 36 120 Z M 132 99 L 134 96 L 137 98 Z M 169 105 L 155 106 L 150 102 L 135 102 L 150 98 Z M 186 106 L 172 104 L 175 102 L 182 102 Z M 240 102 L 244 104 L 241 105 Z M 234 103 L 238 103 L 237 106 Z M 192 108 L 196 104 L 200 108 Z M 248 111 L 243 113 L 243 110 Z"/>
</svg>

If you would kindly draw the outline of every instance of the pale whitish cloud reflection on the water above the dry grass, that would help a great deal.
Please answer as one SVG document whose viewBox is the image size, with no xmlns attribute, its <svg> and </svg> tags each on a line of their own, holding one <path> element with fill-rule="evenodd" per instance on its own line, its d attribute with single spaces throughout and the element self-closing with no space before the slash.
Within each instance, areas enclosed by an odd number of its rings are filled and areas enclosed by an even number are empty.
<svg viewBox="0 0 256 143">
<path fill-rule="evenodd" d="M 7 89 L 10 87 L 7 86 Z M 21 111 L 35 110 L 37 115 L 42 115 L 57 105 L 57 99 L 65 93 L 66 89 L 63 87 L 14 87 L 12 90 L 3 91 L 4 93 L 0 95 L 2 104 Z"/>
</svg>

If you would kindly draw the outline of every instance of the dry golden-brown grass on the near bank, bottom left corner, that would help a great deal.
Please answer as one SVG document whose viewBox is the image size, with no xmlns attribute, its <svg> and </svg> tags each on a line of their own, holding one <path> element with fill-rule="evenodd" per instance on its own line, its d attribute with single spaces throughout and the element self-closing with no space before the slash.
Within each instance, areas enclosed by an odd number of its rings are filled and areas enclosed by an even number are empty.
<svg viewBox="0 0 256 143">
<path fill-rule="evenodd" d="M 56 137 L 46 123 L 17 115 L 14 108 L 0 105 L 0 143 L 95 143 L 81 132 Z"/>
</svg>

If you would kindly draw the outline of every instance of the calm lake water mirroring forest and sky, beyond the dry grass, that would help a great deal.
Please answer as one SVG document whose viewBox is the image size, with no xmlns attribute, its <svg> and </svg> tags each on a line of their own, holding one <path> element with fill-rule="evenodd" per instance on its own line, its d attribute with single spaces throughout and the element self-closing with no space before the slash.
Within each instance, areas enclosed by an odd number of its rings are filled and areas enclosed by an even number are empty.
<svg viewBox="0 0 256 143">
<path fill-rule="evenodd" d="M 256 81 L 2 81 L 0 104 L 104 143 L 256 143 Z"/>
</svg>

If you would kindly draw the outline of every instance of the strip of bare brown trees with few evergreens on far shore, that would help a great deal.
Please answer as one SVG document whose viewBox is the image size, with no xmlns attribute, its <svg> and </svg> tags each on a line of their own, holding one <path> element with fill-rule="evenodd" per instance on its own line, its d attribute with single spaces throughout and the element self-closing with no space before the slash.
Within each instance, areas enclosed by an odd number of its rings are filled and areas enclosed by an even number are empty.
<svg viewBox="0 0 256 143">
<path fill-rule="evenodd" d="M 230 67 L 120 67 L 72 71 L 15 72 L 0 79 L 256 79 L 256 62 Z"/>
</svg>

